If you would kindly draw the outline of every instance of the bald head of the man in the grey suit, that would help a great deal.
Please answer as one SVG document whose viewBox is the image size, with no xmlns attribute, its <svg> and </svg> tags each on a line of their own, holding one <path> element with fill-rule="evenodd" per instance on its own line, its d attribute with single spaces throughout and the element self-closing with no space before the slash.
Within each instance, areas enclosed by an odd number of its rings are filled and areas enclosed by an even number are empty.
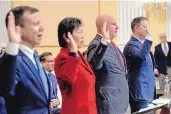
<svg viewBox="0 0 171 114">
<path fill-rule="evenodd" d="M 113 16 L 111 15 L 100 15 L 96 18 L 96 27 L 97 27 L 97 32 L 99 34 L 102 33 L 102 28 L 104 22 L 107 22 L 106 29 L 109 31 L 109 36 L 110 39 L 112 40 L 118 32 L 118 25 L 116 23 L 116 20 Z"/>
</svg>

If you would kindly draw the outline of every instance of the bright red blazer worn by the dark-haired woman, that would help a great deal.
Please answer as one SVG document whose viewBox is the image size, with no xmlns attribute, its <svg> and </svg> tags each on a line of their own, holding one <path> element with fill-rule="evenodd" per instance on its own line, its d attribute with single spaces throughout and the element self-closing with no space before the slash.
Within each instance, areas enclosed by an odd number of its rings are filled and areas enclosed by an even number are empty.
<svg viewBox="0 0 171 114">
<path fill-rule="evenodd" d="M 55 60 L 55 74 L 62 94 L 60 114 L 97 114 L 95 75 L 87 60 L 69 56 L 69 49 L 62 48 Z M 71 87 L 63 89 L 63 82 Z"/>
</svg>

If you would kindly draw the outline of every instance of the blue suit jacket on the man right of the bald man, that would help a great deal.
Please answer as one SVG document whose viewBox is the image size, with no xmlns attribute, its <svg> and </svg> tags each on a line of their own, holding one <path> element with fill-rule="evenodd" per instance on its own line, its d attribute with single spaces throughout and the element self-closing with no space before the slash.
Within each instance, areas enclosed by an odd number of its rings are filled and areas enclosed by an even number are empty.
<svg viewBox="0 0 171 114">
<path fill-rule="evenodd" d="M 152 42 L 145 40 L 142 44 L 132 37 L 124 48 L 128 68 L 128 84 L 133 97 L 151 102 L 154 98 L 155 78 L 150 59 Z"/>
</svg>

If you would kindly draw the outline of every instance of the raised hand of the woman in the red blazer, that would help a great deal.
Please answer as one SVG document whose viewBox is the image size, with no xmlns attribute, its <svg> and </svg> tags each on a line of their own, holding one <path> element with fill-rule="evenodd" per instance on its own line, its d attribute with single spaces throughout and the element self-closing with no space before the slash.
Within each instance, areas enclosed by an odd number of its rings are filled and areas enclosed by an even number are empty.
<svg viewBox="0 0 171 114">
<path fill-rule="evenodd" d="M 70 32 L 68 32 L 67 36 L 68 36 L 68 40 L 69 40 L 68 43 L 70 44 L 71 51 L 77 53 L 78 48 L 77 48 L 77 44 L 75 43 L 74 38 L 72 37 Z"/>
</svg>

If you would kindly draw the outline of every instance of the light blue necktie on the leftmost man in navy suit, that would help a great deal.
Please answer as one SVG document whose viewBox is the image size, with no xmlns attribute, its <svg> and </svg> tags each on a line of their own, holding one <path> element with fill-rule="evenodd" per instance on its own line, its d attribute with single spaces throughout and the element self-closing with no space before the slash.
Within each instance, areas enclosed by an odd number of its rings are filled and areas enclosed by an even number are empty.
<svg viewBox="0 0 171 114">
<path fill-rule="evenodd" d="M 42 65 L 40 64 L 40 60 L 39 60 L 39 57 L 38 57 L 36 52 L 34 52 L 34 60 L 36 61 L 37 69 L 38 69 L 38 72 L 40 74 L 39 76 L 40 76 L 41 81 L 43 83 L 46 96 L 47 96 L 47 98 L 49 98 L 48 80 L 47 80 L 47 77 L 45 75 L 45 72 L 43 71 Z"/>
</svg>

